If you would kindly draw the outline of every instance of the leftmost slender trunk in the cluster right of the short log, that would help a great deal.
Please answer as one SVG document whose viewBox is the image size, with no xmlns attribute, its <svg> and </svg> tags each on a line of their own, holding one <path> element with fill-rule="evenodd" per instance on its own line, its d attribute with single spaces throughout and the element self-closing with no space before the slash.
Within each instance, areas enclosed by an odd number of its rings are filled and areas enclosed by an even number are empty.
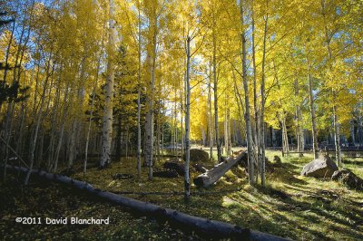
<svg viewBox="0 0 363 241">
<path fill-rule="evenodd" d="M 250 100 L 249 100 L 249 83 L 247 80 L 247 51 L 246 51 L 246 33 L 244 29 L 244 11 L 242 2 L 240 2 L 240 25 L 242 27 L 241 42 L 242 42 L 242 79 L 244 89 L 245 115 L 247 133 L 247 156 L 249 159 L 249 183 L 254 184 L 254 160 L 252 159 L 252 133 L 250 128 Z"/>
</svg>

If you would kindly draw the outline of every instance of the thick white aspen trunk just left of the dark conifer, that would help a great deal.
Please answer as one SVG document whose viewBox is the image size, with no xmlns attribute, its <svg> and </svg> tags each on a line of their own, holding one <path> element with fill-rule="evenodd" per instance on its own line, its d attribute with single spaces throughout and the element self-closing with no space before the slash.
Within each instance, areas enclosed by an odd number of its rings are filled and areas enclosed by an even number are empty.
<svg viewBox="0 0 363 241">
<path fill-rule="evenodd" d="M 100 166 L 103 168 L 111 162 L 111 144 L 113 140 L 113 80 L 114 80 L 114 52 L 116 41 L 116 29 L 114 21 L 114 2 L 109 0 L 109 40 L 108 40 L 108 60 L 107 77 L 104 90 L 104 110 L 103 110 L 103 147 Z"/>
</svg>

